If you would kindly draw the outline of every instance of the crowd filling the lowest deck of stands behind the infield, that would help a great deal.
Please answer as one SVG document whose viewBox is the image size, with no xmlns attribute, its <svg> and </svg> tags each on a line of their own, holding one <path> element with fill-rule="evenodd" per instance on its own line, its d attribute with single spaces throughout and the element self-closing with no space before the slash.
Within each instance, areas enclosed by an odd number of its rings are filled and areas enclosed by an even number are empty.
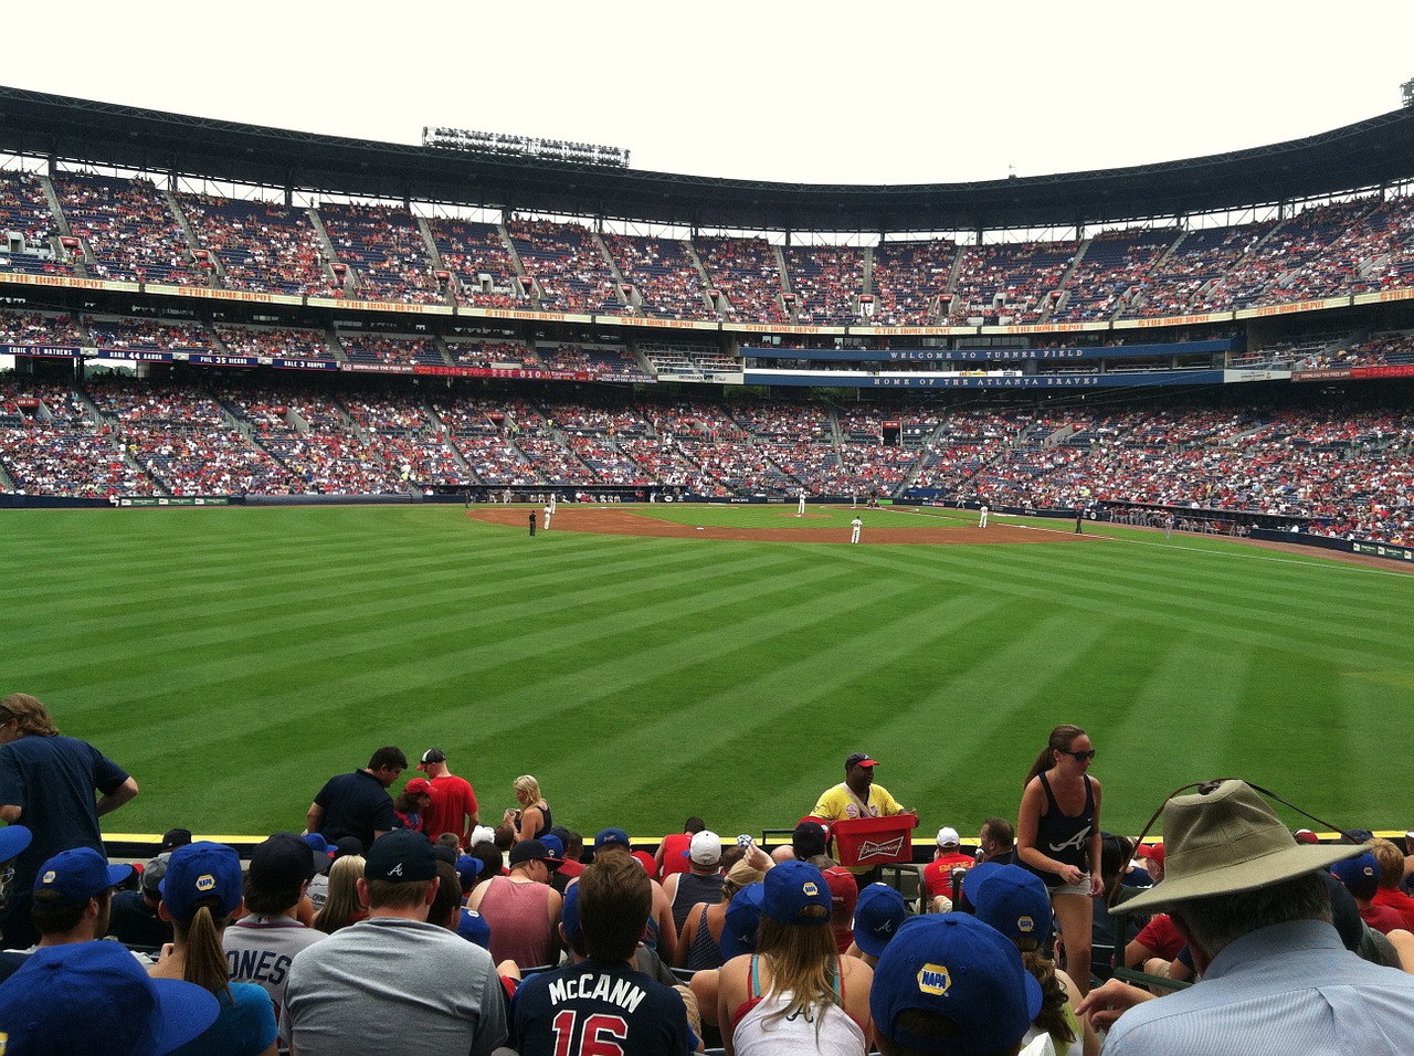
<svg viewBox="0 0 1414 1056">
<path fill-rule="evenodd" d="M 1414 356 L 1406 334 L 1372 342 Z M 1414 543 L 1414 416 L 1393 410 L 633 407 L 510 394 L 424 403 L 416 390 L 206 390 L 115 375 L 81 390 L 10 379 L 0 426 L 11 486 L 64 495 L 115 493 L 119 483 L 171 495 L 460 483 L 805 489 L 993 508 L 1143 505 L 1229 522 L 1261 515 L 1312 533 Z"/>
</svg>

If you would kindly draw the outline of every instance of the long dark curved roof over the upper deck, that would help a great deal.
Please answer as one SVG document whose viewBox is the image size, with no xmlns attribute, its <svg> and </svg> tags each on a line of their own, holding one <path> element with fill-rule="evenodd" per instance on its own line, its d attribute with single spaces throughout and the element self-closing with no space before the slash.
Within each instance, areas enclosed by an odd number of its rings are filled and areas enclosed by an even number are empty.
<svg viewBox="0 0 1414 1056">
<path fill-rule="evenodd" d="M 696 229 L 952 232 L 1138 222 L 1411 180 L 1414 109 L 1184 161 L 970 184 L 830 185 L 488 157 L 0 86 L 0 151 L 305 194 Z"/>
</svg>

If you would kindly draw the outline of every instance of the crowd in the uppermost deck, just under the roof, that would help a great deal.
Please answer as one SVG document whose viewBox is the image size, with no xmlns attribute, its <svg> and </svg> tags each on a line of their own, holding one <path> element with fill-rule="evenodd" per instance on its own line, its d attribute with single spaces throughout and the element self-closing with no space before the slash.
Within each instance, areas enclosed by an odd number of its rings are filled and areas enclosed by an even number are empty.
<svg viewBox="0 0 1414 1056">
<path fill-rule="evenodd" d="M 0 253 L 0 269 L 10 270 L 71 274 L 71 262 L 83 262 L 89 277 L 123 281 L 817 325 L 1186 315 L 1379 291 L 1414 273 L 1408 195 L 1186 233 L 776 247 L 762 237 L 601 235 L 519 218 L 423 221 L 400 206 L 311 209 L 165 192 L 146 178 L 23 172 L 0 177 L 0 228 L 27 247 Z"/>
</svg>

